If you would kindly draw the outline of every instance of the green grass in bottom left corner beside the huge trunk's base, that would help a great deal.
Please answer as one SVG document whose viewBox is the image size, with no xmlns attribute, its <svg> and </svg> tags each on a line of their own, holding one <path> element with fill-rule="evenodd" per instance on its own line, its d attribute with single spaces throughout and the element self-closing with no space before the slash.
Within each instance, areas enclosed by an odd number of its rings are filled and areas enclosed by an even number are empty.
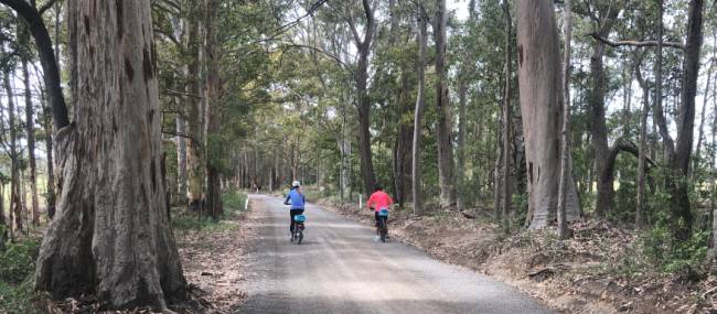
<svg viewBox="0 0 717 314">
<path fill-rule="evenodd" d="M 32 288 L 40 235 L 8 242 L 0 253 L 0 313 L 39 313 L 43 295 Z"/>
</svg>

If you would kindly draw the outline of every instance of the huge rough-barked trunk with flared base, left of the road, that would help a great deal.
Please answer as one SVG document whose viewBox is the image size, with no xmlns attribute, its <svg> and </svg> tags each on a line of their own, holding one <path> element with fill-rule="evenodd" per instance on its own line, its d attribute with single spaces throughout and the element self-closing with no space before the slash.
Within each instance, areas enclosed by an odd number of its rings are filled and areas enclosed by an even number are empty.
<svg viewBox="0 0 717 314">
<path fill-rule="evenodd" d="M 83 17 L 69 28 L 83 61 L 73 64 L 78 115 L 56 136 L 63 187 L 35 286 L 93 294 L 106 308 L 167 308 L 186 282 L 164 210 L 150 3 L 68 6 Z"/>
</svg>

